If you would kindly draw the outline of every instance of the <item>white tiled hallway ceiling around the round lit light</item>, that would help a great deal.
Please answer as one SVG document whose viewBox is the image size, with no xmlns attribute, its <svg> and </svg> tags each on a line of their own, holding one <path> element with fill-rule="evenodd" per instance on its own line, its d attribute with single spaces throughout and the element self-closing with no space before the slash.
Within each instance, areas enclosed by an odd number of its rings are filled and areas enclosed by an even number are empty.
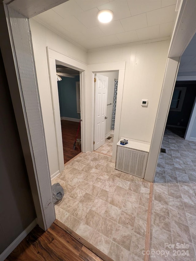
<svg viewBox="0 0 196 261">
<path fill-rule="evenodd" d="M 177 0 L 69 0 L 33 19 L 89 50 L 171 37 Z M 100 10 L 113 11 L 108 24 Z"/>
</svg>

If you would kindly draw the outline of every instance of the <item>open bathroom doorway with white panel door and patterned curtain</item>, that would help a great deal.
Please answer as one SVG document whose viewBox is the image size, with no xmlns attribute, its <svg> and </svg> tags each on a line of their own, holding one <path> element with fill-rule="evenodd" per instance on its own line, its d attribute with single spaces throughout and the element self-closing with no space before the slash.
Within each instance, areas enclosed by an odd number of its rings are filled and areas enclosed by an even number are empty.
<svg viewBox="0 0 196 261">
<path fill-rule="evenodd" d="M 95 74 L 93 149 L 108 156 L 112 156 L 113 150 L 118 77 L 119 71 Z"/>
</svg>

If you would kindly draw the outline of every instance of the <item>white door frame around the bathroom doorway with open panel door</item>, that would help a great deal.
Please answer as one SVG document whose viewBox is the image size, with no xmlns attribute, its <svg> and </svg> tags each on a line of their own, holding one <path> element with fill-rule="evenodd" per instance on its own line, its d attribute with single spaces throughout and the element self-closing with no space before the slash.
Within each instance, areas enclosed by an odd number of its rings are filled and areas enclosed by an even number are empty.
<svg viewBox="0 0 196 261">
<path fill-rule="evenodd" d="M 95 73 L 101 72 L 112 72 L 119 71 L 119 81 L 118 81 L 118 92 L 117 92 L 117 101 L 116 101 L 116 114 L 115 114 L 115 129 L 114 129 L 114 143 L 113 143 L 113 152 L 112 159 L 116 158 L 116 144 L 119 141 L 120 133 L 120 118 L 121 118 L 121 108 L 123 100 L 123 87 L 124 87 L 124 78 L 125 78 L 125 67 L 126 62 L 111 62 L 104 64 L 90 64 L 88 65 L 88 74 L 87 80 L 88 84 L 92 88 L 92 140 L 91 140 L 91 150 L 93 151 L 93 141 L 94 141 L 94 115 L 95 115 L 95 84 L 94 77 Z M 91 83 L 89 82 L 91 80 Z"/>
</svg>

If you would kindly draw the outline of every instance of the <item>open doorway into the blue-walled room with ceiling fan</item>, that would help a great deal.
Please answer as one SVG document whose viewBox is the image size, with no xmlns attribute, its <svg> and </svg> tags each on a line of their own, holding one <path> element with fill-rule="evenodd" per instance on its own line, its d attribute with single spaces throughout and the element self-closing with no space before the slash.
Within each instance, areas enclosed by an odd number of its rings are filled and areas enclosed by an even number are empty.
<svg viewBox="0 0 196 261">
<path fill-rule="evenodd" d="M 56 63 L 64 163 L 81 152 L 80 72 Z"/>
</svg>

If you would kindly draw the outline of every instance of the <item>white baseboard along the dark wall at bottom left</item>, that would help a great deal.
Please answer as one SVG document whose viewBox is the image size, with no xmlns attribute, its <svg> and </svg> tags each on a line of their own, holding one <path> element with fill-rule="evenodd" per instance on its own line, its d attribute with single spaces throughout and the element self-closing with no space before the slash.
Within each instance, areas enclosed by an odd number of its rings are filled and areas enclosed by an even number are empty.
<svg viewBox="0 0 196 261">
<path fill-rule="evenodd" d="M 37 219 L 33 220 L 33 222 L 3 251 L 0 255 L 0 261 L 6 259 L 6 257 L 17 247 L 18 244 L 32 231 L 32 229 L 36 226 Z"/>
</svg>

